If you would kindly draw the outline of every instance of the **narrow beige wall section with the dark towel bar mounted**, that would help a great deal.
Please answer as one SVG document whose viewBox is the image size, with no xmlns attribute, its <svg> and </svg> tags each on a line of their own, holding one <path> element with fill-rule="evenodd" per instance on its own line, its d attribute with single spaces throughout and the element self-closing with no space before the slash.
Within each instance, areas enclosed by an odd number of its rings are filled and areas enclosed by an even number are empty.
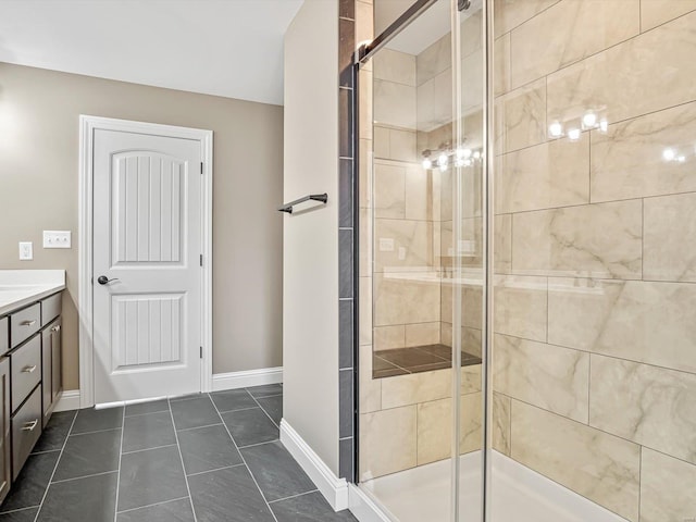
<svg viewBox="0 0 696 522">
<path fill-rule="evenodd" d="M 338 2 L 307 0 L 285 37 L 284 419 L 338 475 Z"/>
</svg>

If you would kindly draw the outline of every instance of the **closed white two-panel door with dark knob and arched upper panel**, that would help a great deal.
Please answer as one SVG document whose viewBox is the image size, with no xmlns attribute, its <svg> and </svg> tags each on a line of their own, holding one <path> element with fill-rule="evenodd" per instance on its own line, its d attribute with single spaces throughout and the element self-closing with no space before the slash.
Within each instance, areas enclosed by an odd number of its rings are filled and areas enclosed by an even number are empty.
<svg viewBox="0 0 696 522">
<path fill-rule="evenodd" d="M 201 149 L 95 130 L 96 403 L 201 389 Z"/>
</svg>

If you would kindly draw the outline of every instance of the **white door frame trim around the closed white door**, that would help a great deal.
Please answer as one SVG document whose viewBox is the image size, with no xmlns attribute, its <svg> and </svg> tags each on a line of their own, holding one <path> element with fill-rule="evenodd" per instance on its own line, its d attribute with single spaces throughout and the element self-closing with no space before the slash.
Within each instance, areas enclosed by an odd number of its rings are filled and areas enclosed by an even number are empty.
<svg viewBox="0 0 696 522">
<path fill-rule="evenodd" d="M 92 296 L 94 234 L 94 138 L 95 130 L 140 133 L 198 140 L 203 156 L 201 186 L 201 391 L 212 389 L 212 225 L 213 225 L 213 132 L 156 123 L 79 115 L 79 221 L 78 221 L 78 298 L 79 318 L 79 407 L 95 406 L 95 344 Z"/>
</svg>

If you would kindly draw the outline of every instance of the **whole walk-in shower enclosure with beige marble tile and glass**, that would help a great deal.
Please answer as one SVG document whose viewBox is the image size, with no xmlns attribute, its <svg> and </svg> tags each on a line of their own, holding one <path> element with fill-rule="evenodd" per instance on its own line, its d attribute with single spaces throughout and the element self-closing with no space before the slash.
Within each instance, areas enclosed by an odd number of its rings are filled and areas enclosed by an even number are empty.
<svg viewBox="0 0 696 522">
<path fill-rule="evenodd" d="M 696 1 L 394 5 L 359 53 L 360 487 L 696 520 Z"/>
</svg>

